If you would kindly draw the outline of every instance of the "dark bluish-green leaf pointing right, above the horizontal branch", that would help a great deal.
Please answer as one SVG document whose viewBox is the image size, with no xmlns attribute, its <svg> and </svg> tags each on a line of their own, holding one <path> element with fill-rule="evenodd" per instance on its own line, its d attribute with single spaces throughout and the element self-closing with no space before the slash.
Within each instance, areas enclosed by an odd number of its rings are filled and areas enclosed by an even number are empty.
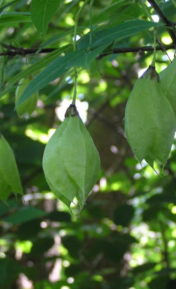
<svg viewBox="0 0 176 289">
<path fill-rule="evenodd" d="M 130 20 L 119 25 L 115 25 L 108 29 L 98 30 L 93 33 L 93 40 L 91 47 L 96 47 L 105 43 L 110 43 L 116 40 L 121 41 L 122 39 L 145 31 L 151 27 L 162 26 L 162 23 L 150 22 L 145 20 Z M 83 49 L 89 46 L 89 35 L 82 37 L 78 43 L 78 48 Z"/>
</svg>

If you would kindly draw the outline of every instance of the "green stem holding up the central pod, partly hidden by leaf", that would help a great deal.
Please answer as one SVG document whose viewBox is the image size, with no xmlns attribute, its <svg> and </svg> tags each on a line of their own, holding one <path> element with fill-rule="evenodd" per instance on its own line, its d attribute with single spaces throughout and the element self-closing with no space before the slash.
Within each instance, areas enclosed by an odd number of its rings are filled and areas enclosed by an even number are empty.
<svg viewBox="0 0 176 289">
<path fill-rule="evenodd" d="M 85 8 L 85 6 L 87 5 L 87 3 L 90 0 L 85 0 L 84 3 L 82 4 L 81 8 L 78 10 L 76 16 L 75 16 L 75 26 L 74 26 L 74 37 L 73 37 L 73 51 L 76 51 L 76 35 L 77 35 L 77 28 L 78 28 L 78 20 L 79 20 L 79 16 L 82 13 L 82 10 Z M 76 94 L 77 94 L 77 67 L 74 66 L 74 93 L 73 93 L 73 101 L 72 104 L 75 105 L 75 101 L 76 101 Z"/>
</svg>

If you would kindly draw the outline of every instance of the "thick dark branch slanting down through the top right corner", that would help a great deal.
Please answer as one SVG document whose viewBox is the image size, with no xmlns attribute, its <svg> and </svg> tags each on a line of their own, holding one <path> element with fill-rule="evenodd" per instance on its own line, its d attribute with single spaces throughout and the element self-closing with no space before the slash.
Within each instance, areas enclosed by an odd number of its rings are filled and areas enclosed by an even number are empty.
<svg viewBox="0 0 176 289">
<path fill-rule="evenodd" d="M 166 15 L 163 13 L 163 11 L 161 10 L 161 8 L 158 6 L 157 2 L 155 0 L 147 0 L 150 5 L 152 6 L 152 8 L 157 12 L 158 16 L 161 18 L 162 22 L 166 23 L 167 26 L 171 27 L 173 30 L 167 28 L 167 31 L 169 32 L 169 35 L 173 41 L 173 43 L 175 44 L 176 47 L 176 35 L 175 35 L 175 25 L 172 21 L 170 21 L 169 19 L 167 19 Z"/>
</svg>

